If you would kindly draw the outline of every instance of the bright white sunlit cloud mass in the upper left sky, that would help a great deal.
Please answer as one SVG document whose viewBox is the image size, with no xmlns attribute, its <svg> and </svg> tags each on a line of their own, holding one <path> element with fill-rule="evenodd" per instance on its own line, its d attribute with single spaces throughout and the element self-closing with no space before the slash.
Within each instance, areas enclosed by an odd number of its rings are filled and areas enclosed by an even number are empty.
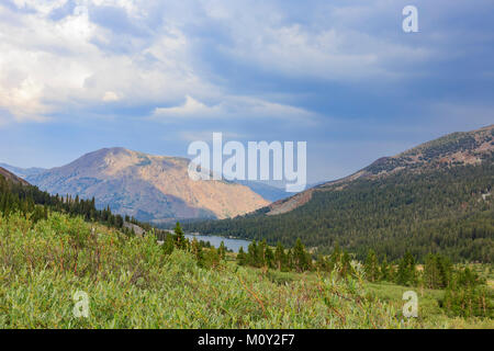
<svg viewBox="0 0 494 351">
<path fill-rule="evenodd" d="M 0 21 L 0 107 L 16 121 L 43 121 L 101 101 L 158 104 L 212 90 L 193 72 L 188 39 L 177 29 L 164 27 L 134 53 L 109 52 L 94 43 L 110 43 L 110 30 L 83 12 L 52 21 L 55 5 L 43 3 L 20 1 L 19 7 L 38 11 L 24 14 L 0 5 L 0 18 L 15 19 Z"/>
</svg>

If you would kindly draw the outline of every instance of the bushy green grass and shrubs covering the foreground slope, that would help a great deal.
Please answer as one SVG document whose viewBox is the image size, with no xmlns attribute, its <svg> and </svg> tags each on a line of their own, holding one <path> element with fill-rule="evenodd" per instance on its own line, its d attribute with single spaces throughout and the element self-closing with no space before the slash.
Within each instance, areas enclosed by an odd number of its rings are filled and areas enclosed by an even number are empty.
<svg viewBox="0 0 494 351">
<path fill-rule="evenodd" d="M 126 237 L 50 214 L 36 224 L 0 217 L 0 328 L 493 328 L 451 319 L 441 292 L 419 294 L 419 317 L 401 317 L 409 287 L 284 273 L 223 262 L 202 269 L 167 256 L 156 238 Z M 77 318 L 74 294 L 89 296 Z"/>
</svg>

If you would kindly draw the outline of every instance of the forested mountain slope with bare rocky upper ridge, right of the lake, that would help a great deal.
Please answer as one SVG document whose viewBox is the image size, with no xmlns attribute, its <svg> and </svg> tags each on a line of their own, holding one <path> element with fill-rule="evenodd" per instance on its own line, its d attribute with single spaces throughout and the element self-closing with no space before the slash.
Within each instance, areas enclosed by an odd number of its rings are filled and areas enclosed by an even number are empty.
<svg viewBox="0 0 494 351">
<path fill-rule="evenodd" d="M 189 224 L 189 230 L 267 239 L 296 238 L 330 252 L 338 244 L 395 259 L 441 252 L 453 260 L 494 262 L 494 125 L 425 143 L 337 181 L 252 214 Z"/>
</svg>

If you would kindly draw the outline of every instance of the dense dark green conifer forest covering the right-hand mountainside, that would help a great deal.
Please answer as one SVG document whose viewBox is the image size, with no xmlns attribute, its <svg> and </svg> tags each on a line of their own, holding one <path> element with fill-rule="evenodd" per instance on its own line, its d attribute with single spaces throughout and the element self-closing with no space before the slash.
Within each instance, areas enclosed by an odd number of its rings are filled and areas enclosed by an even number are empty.
<svg viewBox="0 0 494 351">
<path fill-rule="evenodd" d="M 293 246 L 300 238 L 323 254 L 338 242 L 359 260 L 373 249 L 392 260 L 409 251 L 420 262 L 429 252 L 453 262 L 494 262 L 493 160 L 328 185 L 284 214 L 267 216 L 268 210 L 261 208 L 236 218 L 189 223 L 186 228 L 266 239 L 271 246 Z"/>
</svg>

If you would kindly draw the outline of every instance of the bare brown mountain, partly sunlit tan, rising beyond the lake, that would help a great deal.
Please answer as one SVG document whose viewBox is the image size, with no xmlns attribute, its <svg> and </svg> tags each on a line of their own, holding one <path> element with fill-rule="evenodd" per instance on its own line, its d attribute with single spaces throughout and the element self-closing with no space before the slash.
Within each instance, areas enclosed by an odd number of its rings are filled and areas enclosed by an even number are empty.
<svg viewBox="0 0 494 351">
<path fill-rule="evenodd" d="M 26 180 L 60 195 L 96 199 L 119 214 L 155 224 L 182 218 L 226 218 L 269 204 L 247 186 L 226 181 L 192 181 L 189 160 L 104 148 Z"/>
</svg>

